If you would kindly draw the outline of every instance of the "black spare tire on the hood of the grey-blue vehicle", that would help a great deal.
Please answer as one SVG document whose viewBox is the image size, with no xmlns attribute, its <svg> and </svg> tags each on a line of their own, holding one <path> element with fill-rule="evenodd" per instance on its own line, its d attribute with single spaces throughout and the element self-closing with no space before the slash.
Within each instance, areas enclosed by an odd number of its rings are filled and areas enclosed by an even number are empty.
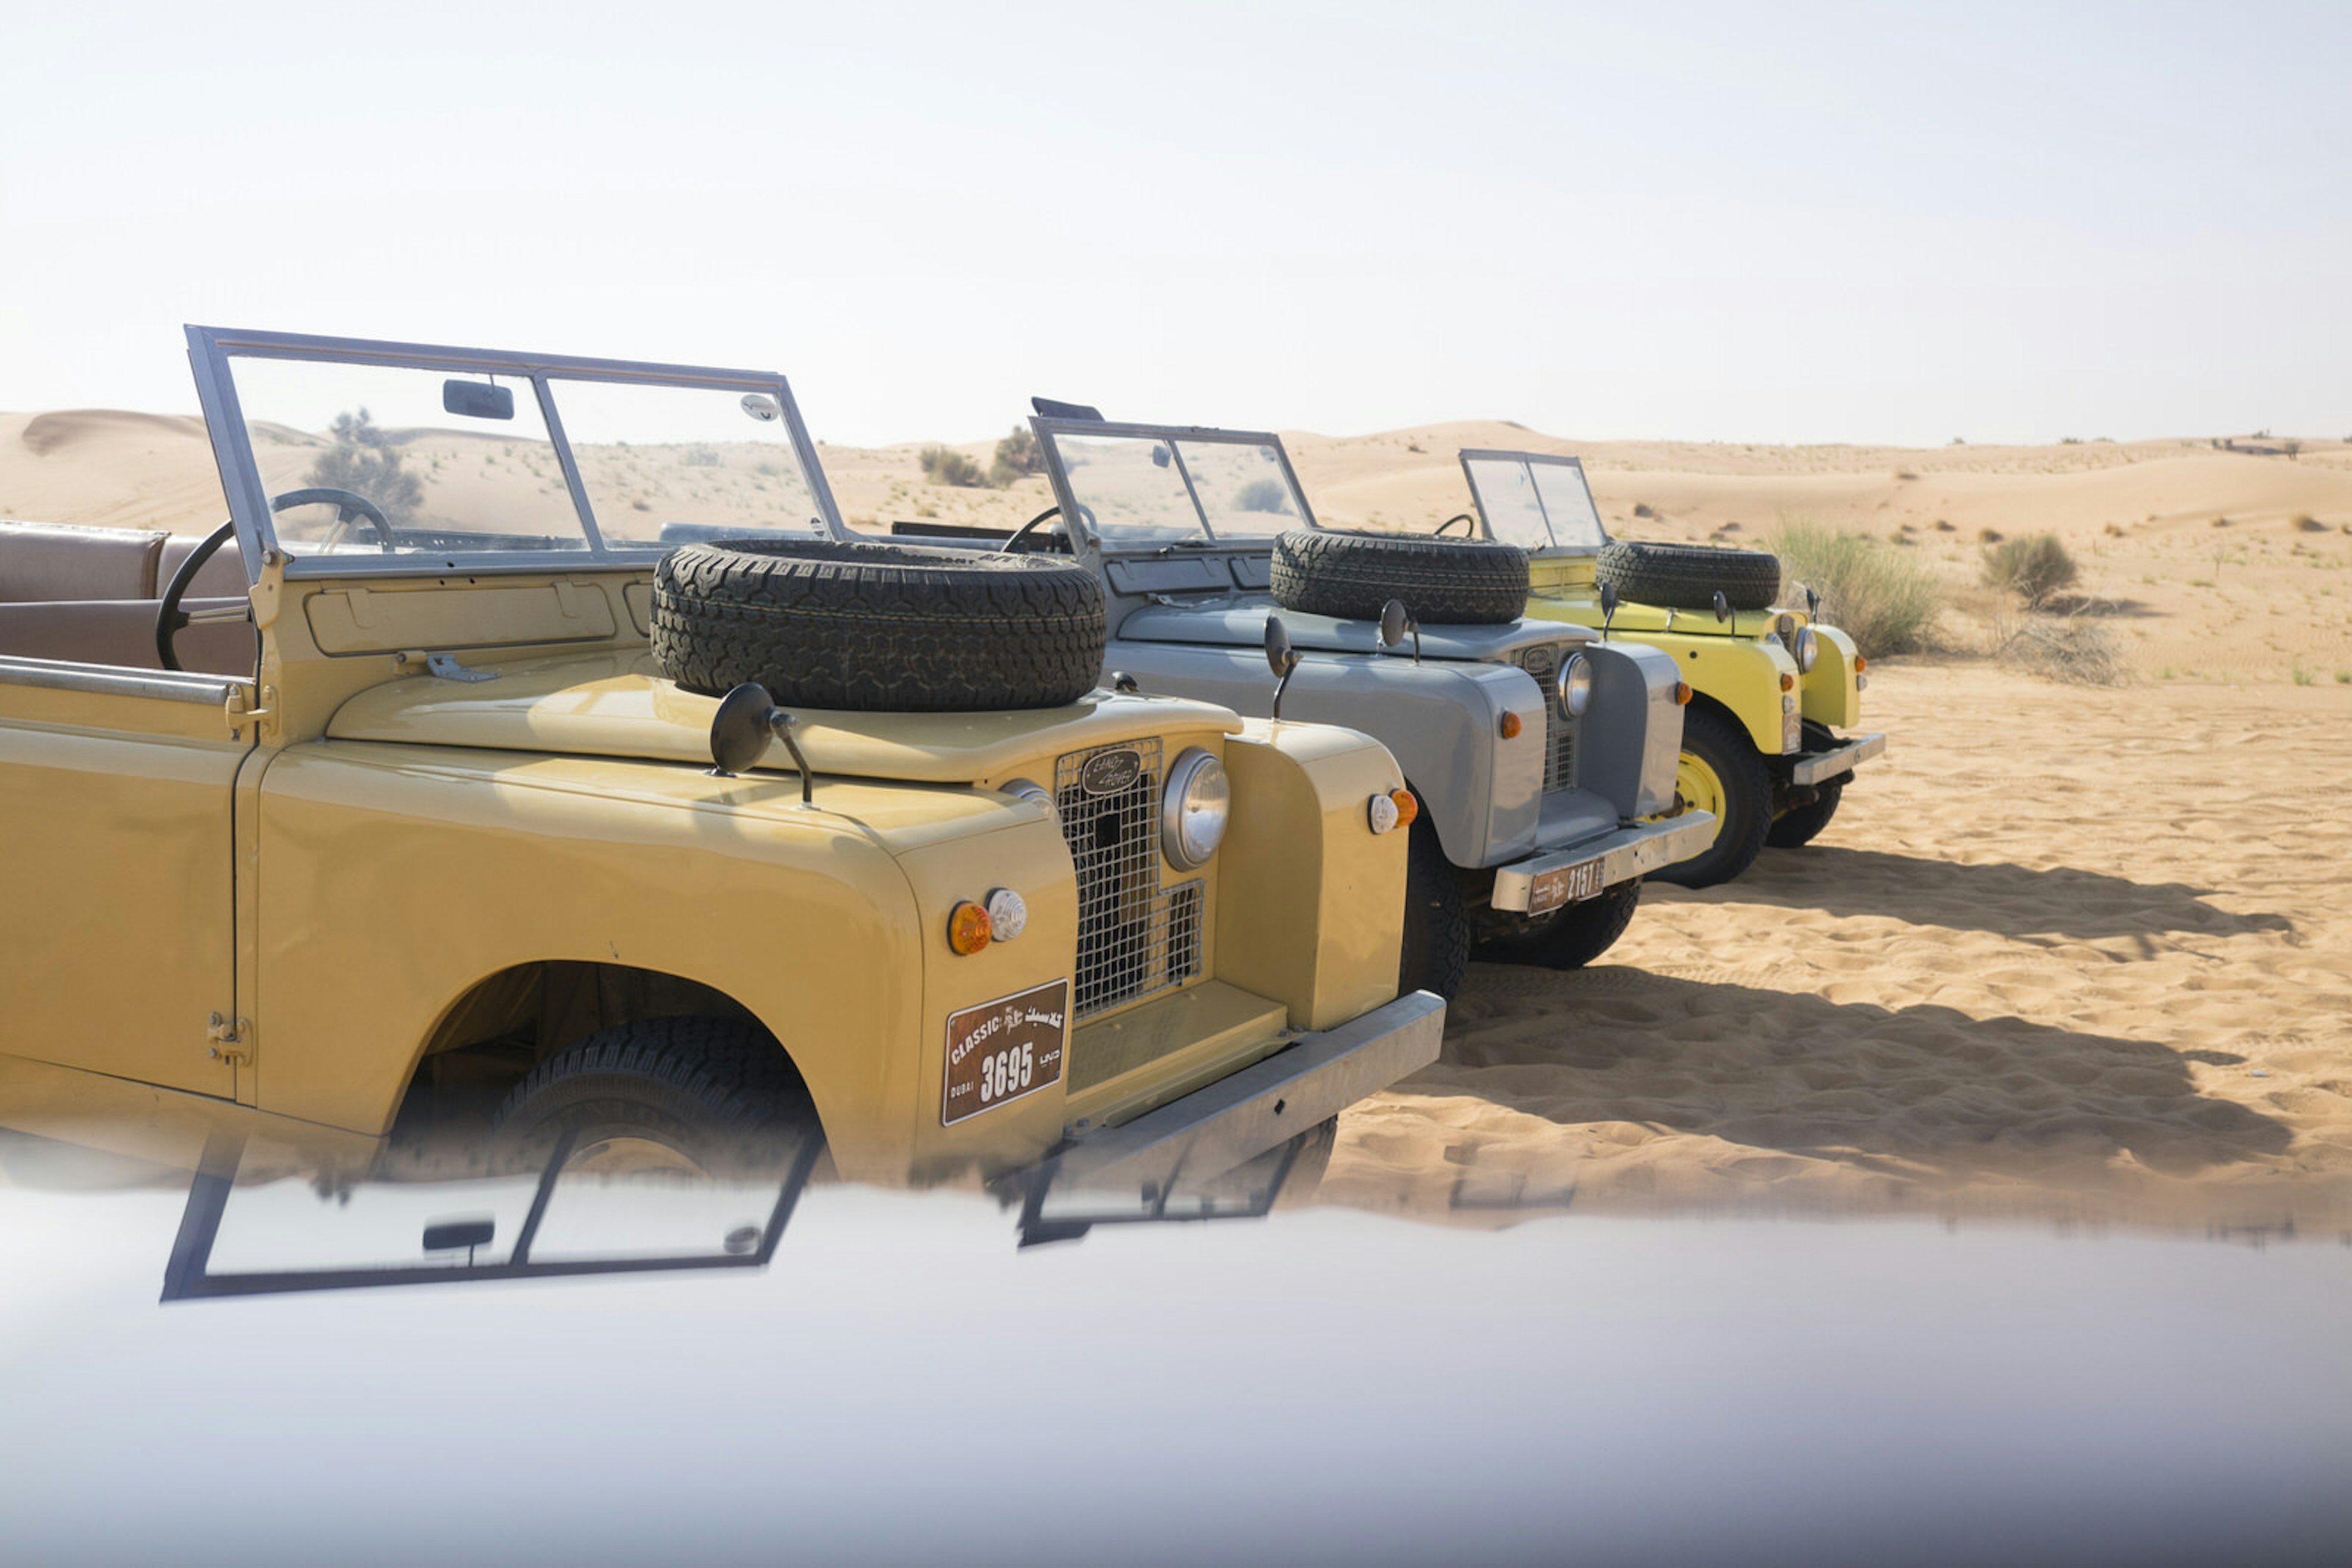
<svg viewBox="0 0 2352 1568">
<path fill-rule="evenodd" d="M 1503 625 L 1526 614 L 1526 550 L 1491 538 L 1291 529 L 1275 536 L 1275 604 L 1378 621 L 1402 599 L 1423 625 Z"/>
</svg>

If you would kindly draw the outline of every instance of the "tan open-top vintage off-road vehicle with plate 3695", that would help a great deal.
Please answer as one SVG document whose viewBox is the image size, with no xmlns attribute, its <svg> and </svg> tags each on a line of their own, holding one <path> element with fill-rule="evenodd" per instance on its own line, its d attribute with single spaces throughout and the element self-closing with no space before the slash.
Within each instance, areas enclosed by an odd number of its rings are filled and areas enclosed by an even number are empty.
<svg viewBox="0 0 2352 1568">
<path fill-rule="evenodd" d="M 0 524 L 0 1051 L 365 1135 L 468 1084 L 515 1138 L 809 1112 L 851 1178 L 1127 1192 L 1435 1058 L 1395 759 L 1094 689 L 1068 562 L 835 543 L 781 376 L 188 348 L 228 522 Z M 1004 677 L 924 684 L 962 639 Z"/>
</svg>

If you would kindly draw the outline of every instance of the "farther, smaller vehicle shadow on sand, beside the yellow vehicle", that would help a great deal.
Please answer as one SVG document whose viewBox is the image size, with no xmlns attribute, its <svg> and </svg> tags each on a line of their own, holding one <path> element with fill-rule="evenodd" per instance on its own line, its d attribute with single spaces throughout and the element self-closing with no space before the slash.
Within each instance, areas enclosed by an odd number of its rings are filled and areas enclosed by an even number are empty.
<svg viewBox="0 0 2352 1568">
<path fill-rule="evenodd" d="M 1644 898 L 1764 903 L 1825 914 L 1884 914 L 1915 926 L 1990 931 L 2030 940 L 2114 936 L 2246 936 L 2293 931 L 2284 914 L 2232 914 L 2185 882 L 2131 882 L 2072 865 L 2032 870 L 1957 865 L 1882 849 L 1766 849 L 1733 884 L 1705 891 L 1644 889 Z"/>
</svg>

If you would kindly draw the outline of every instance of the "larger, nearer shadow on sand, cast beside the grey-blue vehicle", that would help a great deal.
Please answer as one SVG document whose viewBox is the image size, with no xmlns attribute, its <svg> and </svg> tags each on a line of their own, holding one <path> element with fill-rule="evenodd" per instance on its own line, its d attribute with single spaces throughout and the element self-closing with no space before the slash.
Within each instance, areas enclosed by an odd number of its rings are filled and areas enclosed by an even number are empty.
<svg viewBox="0 0 2352 1568">
<path fill-rule="evenodd" d="M 2293 1140 L 2199 1093 L 2190 1058 L 2154 1041 L 1623 966 L 1472 966 L 1444 1056 L 1399 1088 L 1929 1182 L 2110 1173 L 2122 1154 L 2192 1175 Z"/>
</svg>

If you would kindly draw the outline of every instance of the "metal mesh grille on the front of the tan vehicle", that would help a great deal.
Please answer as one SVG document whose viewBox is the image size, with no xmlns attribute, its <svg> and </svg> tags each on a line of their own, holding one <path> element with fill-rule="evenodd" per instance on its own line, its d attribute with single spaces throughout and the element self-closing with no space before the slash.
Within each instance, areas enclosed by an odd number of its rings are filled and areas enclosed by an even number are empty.
<svg viewBox="0 0 2352 1568">
<path fill-rule="evenodd" d="M 1096 795 L 1087 764 L 1136 752 L 1134 783 Z M 1202 884 L 1160 886 L 1160 741 L 1054 762 L 1054 809 L 1077 863 L 1077 1001 L 1087 1018 L 1200 973 Z"/>
</svg>

